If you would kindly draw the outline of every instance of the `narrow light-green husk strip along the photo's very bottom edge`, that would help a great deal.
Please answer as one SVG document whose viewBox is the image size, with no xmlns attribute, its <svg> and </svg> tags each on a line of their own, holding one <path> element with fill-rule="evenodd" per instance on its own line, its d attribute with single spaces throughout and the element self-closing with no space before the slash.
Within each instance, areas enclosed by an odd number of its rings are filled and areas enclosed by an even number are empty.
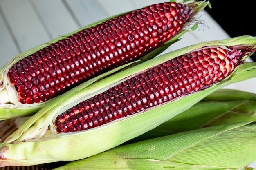
<svg viewBox="0 0 256 170">
<path fill-rule="evenodd" d="M 53 170 L 70 170 L 72 168 L 76 170 L 227 170 L 226 167 L 220 166 L 195 166 L 171 161 L 136 158 L 82 159 Z M 229 168 L 228 170 L 245 170 L 245 168 Z"/>
</svg>

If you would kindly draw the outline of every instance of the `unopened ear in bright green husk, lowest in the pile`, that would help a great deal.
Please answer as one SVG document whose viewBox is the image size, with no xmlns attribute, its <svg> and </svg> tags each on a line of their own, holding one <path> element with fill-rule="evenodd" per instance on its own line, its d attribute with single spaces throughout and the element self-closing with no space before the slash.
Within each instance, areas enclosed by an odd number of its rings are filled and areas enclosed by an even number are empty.
<svg viewBox="0 0 256 170">
<path fill-rule="evenodd" d="M 221 124 L 117 146 L 54 170 L 253 170 L 256 124 Z"/>
</svg>

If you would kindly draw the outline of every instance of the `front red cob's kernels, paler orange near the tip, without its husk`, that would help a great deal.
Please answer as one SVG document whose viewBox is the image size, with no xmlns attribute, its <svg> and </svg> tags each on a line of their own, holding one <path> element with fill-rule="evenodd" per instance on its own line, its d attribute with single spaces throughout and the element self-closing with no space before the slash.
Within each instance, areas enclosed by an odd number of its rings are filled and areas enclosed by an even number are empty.
<svg viewBox="0 0 256 170">
<path fill-rule="evenodd" d="M 230 75 L 241 54 L 212 47 L 164 62 L 58 115 L 56 131 L 86 130 L 200 91 Z"/>
</svg>

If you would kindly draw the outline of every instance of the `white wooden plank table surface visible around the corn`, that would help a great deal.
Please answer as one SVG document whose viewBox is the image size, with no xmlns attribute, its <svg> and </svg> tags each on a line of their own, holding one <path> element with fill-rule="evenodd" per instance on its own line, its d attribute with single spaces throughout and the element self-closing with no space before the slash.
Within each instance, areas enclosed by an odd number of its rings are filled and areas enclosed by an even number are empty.
<svg viewBox="0 0 256 170">
<path fill-rule="evenodd" d="M 98 20 L 168 0 L 0 0 L 0 68 L 13 56 Z M 205 26 L 186 33 L 166 52 L 207 40 L 229 38 L 209 14 Z M 256 93 L 256 78 L 229 85 Z M 256 168 L 256 163 L 253 165 Z"/>
</svg>

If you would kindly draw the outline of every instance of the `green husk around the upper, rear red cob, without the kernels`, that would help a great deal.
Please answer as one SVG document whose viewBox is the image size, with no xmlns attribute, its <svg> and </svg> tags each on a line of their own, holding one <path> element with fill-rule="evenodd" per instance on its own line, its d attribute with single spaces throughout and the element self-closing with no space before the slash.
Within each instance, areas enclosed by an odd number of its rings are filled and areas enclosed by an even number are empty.
<svg viewBox="0 0 256 170">
<path fill-rule="evenodd" d="M 198 13 L 199 11 L 201 11 L 202 9 L 204 9 L 205 7 L 207 7 L 208 5 L 210 6 L 209 2 L 205 2 L 205 1 L 200 1 L 200 2 L 193 2 L 193 3 L 189 3 L 187 4 L 188 6 L 193 6 L 194 8 L 194 13 L 193 15 L 195 15 L 196 13 Z M 121 15 L 121 14 L 119 14 Z M 119 15 L 115 15 L 115 16 L 112 16 L 110 18 L 114 18 L 116 16 L 119 16 Z M 193 16 L 194 17 L 194 16 Z M 192 17 L 192 18 L 193 18 Z M 61 36 L 59 38 L 56 38 L 50 42 L 47 42 L 45 44 L 42 44 L 40 46 L 36 46 L 35 48 L 33 49 L 30 49 L 28 51 L 25 51 L 15 57 L 13 57 L 13 59 L 8 62 L 1 70 L 0 70 L 0 91 L 3 90 L 3 89 L 6 89 L 9 93 L 9 95 L 12 95 L 11 99 L 13 100 L 12 103 L 7 103 L 7 104 L 0 104 L 0 120 L 4 120 L 4 119 L 11 119 L 13 117 L 21 117 L 21 116 L 28 116 L 28 115 L 33 115 L 34 113 L 36 113 L 38 110 L 40 110 L 41 108 L 43 108 L 44 106 L 50 104 L 50 103 L 55 103 L 56 104 L 56 100 L 53 101 L 53 99 L 50 99 L 46 102 L 43 102 L 43 103 L 34 103 L 34 104 L 20 104 L 20 102 L 18 102 L 18 97 L 16 96 L 16 92 L 14 91 L 13 87 L 11 87 L 9 85 L 9 80 L 7 78 L 7 72 L 9 71 L 9 69 L 11 68 L 11 66 L 16 63 L 18 60 L 21 60 L 22 58 L 24 57 L 27 57 L 28 55 L 38 51 L 39 49 L 42 49 L 46 46 L 48 46 L 49 44 L 51 43 L 55 43 L 57 42 L 58 40 L 61 40 L 67 36 L 70 36 L 78 31 L 81 31 L 82 29 L 85 29 L 85 28 L 89 28 L 89 27 L 92 27 L 92 26 L 95 26 L 97 24 L 100 24 L 101 22 L 104 22 L 106 20 L 109 20 L 110 18 L 106 18 L 104 20 L 101 20 L 101 21 L 98 21 L 98 22 L 95 22 L 93 24 L 90 24 L 88 26 L 85 26 L 79 30 L 76 30 L 72 33 L 69 33 L 67 35 L 64 35 L 64 36 Z M 180 31 L 180 33 L 178 35 L 176 35 L 175 37 L 173 37 L 171 40 L 169 40 L 168 42 L 166 42 L 163 46 L 155 49 L 154 51 L 152 51 L 151 53 L 145 55 L 145 56 L 142 56 L 140 58 L 140 60 L 137 61 L 137 63 L 140 63 L 140 62 L 144 62 L 146 60 L 149 60 L 157 55 L 159 55 L 160 53 L 162 53 L 165 49 L 167 49 L 171 44 L 177 42 L 179 40 L 179 38 L 182 37 L 182 35 L 184 35 L 186 32 L 188 31 L 192 31 L 192 30 L 195 30 L 197 29 L 197 26 L 198 26 L 198 23 L 195 23 L 194 25 L 193 24 L 193 20 L 191 20 L 191 22 L 188 22 L 186 23 L 186 25 L 184 26 L 184 28 Z M 137 64 L 136 62 L 135 63 L 130 63 L 133 65 Z M 68 92 L 68 94 L 72 94 L 72 93 L 75 93 L 76 91 L 79 91 L 80 89 L 82 88 L 85 88 L 86 86 L 90 85 L 92 82 L 96 82 L 98 81 L 99 79 L 102 79 L 103 77 L 107 77 L 108 75 L 114 73 L 114 72 L 117 72 L 119 71 L 120 69 L 124 69 L 126 67 L 130 67 L 131 65 L 130 64 L 126 64 L 125 66 L 121 66 L 119 68 L 116 68 L 112 71 L 108 71 L 107 73 L 104 73 L 100 76 L 97 76 L 79 86 L 76 86 L 75 89 L 72 89 L 71 91 Z M 59 102 L 61 102 L 62 100 L 65 99 L 65 96 L 66 95 L 60 95 L 59 97 Z"/>
</svg>

